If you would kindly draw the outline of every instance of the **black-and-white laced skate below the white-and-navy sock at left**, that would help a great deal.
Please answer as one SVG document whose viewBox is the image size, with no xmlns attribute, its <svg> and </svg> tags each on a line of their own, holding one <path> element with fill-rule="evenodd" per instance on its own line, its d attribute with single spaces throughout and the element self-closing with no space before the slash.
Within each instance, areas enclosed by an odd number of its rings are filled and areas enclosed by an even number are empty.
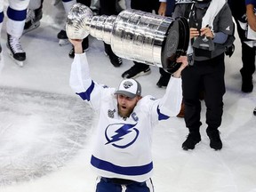
<svg viewBox="0 0 256 192">
<path fill-rule="evenodd" d="M 24 52 L 21 47 L 20 38 L 16 38 L 7 34 L 6 45 L 7 51 L 9 52 L 12 60 L 14 60 L 18 66 L 23 67 L 23 62 L 26 60 L 26 52 Z"/>
</svg>

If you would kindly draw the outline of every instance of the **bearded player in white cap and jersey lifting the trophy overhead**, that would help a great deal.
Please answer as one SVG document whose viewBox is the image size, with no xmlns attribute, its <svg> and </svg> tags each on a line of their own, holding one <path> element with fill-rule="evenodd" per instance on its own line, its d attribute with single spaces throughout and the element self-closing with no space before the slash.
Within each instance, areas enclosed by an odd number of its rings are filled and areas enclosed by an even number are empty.
<svg viewBox="0 0 256 192">
<path fill-rule="evenodd" d="M 188 65 L 186 56 L 173 74 L 164 97 L 141 96 L 140 83 L 124 79 L 119 88 L 92 80 L 82 40 L 70 40 L 75 58 L 69 84 L 99 115 L 91 164 L 97 172 L 97 192 L 154 191 L 151 134 L 161 120 L 177 116 L 182 100 L 180 74 Z M 125 190 L 126 189 L 126 190 Z"/>
</svg>

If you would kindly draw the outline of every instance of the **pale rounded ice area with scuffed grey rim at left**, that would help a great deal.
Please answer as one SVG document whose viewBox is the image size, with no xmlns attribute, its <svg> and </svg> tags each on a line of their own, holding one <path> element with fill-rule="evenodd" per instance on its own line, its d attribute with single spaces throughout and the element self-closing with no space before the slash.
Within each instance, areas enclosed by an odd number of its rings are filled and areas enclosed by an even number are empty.
<svg viewBox="0 0 256 192">
<path fill-rule="evenodd" d="M 92 111 L 77 98 L 0 87 L 0 186 L 41 177 L 83 148 Z"/>
</svg>

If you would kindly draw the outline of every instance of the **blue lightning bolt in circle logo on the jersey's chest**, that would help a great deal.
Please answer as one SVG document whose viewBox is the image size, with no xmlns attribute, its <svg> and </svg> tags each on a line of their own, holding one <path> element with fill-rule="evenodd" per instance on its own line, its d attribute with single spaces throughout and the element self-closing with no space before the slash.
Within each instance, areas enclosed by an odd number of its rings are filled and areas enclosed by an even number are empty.
<svg viewBox="0 0 256 192">
<path fill-rule="evenodd" d="M 139 130 L 136 124 L 109 124 L 105 130 L 105 137 L 108 140 L 106 145 L 112 144 L 116 148 L 127 148 L 137 140 Z"/>
</svg>

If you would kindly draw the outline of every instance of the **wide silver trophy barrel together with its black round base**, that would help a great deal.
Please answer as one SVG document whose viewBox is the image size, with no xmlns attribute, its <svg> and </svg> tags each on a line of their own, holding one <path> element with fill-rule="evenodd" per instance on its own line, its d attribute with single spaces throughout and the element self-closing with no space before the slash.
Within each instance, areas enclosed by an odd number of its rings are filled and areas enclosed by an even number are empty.
<svg viewBox="0 0 256 192">
<path fill-rule="evenodd" d="M 117 56 L 164 68 L 169 73 L 180 68 L 176 59 L 186 54 L 188 21 L 148 12 L 125 10 L 113 25 L 111 48 Z"/>
</svg>

